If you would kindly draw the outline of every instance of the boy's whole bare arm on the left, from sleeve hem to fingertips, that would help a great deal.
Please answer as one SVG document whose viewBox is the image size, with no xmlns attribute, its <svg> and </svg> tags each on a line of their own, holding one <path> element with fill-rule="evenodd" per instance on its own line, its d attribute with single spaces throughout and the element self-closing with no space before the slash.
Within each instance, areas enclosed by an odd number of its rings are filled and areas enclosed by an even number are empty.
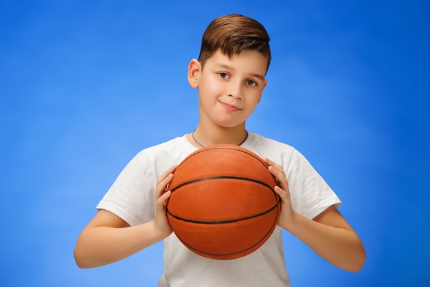
<svg viewBox="0 0 430 287">
<path fill-rule="evenodd" d="M 159 242 L 172 233 L 167 220 L 166 200 L 175 167 L 157 180 L 155 220 L 130 226 L 117 215 L 100 210 L 84 228 L 75 246 L 75 260 L 80 268 L 102 266 L 124 259 Z"/>
</svg>

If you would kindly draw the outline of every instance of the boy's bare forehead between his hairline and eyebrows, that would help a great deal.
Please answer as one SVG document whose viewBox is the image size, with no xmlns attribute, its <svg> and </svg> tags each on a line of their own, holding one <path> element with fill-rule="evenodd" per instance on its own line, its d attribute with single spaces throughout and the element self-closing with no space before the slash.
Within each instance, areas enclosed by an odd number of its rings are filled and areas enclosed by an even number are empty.
<svg viewBox="0 0 430 287">
<path fill-rule="evenodd" d="M 205 65 L 212 68 L 225 68 L 234 70 L 235 72 L 242 72 L 245 74 L 256 74 L 264 78 L 267 72 L 267 58 L 260 52 L 254 50 L 244 50 L 240 54 L 231 57 L 216 51 Z"/>
</svg>

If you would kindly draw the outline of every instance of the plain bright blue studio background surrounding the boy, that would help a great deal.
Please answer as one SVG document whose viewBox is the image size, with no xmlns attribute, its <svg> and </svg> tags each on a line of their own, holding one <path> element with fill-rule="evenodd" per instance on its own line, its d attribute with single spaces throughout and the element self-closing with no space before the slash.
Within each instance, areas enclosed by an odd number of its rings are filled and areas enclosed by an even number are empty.
<svg viewBox="0 0 430 287">
<path fill-rule="evenodd" d="M 334 189 L 367 262 L 284 233 L 297 286 L 430 286 L 429 1 L 0 1 L 1 286 L 156 286 L 162 244 L 82 270 L 73 248 L 139 150 L 192 131 L 212 19 L 260 21 L 273 61 L 247 129 Z"/>
</svg>

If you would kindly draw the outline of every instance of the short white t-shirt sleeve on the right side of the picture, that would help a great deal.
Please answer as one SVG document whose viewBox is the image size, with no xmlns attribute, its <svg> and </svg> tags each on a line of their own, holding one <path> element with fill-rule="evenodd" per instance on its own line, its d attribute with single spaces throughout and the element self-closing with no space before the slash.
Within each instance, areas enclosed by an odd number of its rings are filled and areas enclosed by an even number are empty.
<svg viewBox="0 0 430 287">
<path fill-rule="evenodd" d="M 328 207 L 341 204 L 336 193 L 296 149 L 291 153 L 286 178 L 293 209 L 305 217 L 313 219 Z"/>
</svg>

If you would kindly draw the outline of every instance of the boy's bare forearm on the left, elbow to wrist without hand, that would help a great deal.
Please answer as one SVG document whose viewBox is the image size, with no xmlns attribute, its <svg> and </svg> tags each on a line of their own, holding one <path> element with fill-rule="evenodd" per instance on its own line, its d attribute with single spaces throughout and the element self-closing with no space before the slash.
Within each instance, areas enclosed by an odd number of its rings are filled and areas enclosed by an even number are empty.
<svg viewBox="0 0 430 287">
<path fill-rule="evenodd" d="M 92 268 L 117 262 L 163 240 L 154 222 L 138 226 L 85 228 L 75 247 L 76 264 Z"/>
</svg>

